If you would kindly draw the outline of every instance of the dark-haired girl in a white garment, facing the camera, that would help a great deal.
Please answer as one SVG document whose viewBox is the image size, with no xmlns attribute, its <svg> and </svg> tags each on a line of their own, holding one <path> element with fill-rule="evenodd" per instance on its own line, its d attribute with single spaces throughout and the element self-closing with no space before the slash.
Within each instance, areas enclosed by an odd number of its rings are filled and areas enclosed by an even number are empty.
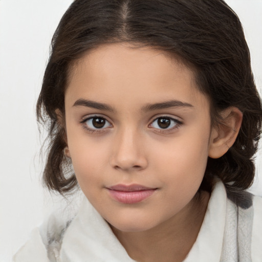
<svg viewBox="0 0 262 262">
<path fill-rule="evenodd" d="M 75 0 L 37 102 L 43 179 L 84 194 L 14 261 L 260 261 L 262 109 L 223 0 Z"/>
</svg>

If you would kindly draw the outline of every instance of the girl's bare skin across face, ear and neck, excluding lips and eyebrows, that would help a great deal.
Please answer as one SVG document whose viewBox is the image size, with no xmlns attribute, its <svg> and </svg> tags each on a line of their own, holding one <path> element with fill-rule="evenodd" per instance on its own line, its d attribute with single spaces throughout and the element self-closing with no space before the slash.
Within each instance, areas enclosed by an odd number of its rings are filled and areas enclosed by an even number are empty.
<svg viewBox="0 0 262 262">
<path fill-rule="evenodd" d="M 80 99 L 106 104 L 114 112 Z M 186 105 L 142 110 L 170 100 Z M 241 113 L 231 108 L 224 114 L 237 130 Z M 106 120 L 102 128 L 95 129 L 93 119 L 85 121 L 94 115 Z M 169 118 L 170 126 L 161 128 L 160 117 Z M 207 192 L 195 197 L 207 158 L 222 156 L 237 135 L 232 128 L 211 127 L 208 100 L 190 69 L 152 48 L 100 46 L 74 66 L 65 92 L 65 123 L 67 155 L 78 183 L 129 256 L 143 262 L 182 261 L 209 200 Z M 117 184 L 157 190 L 142 202 L 123 204 L 107 190 Z"/>
</svg>

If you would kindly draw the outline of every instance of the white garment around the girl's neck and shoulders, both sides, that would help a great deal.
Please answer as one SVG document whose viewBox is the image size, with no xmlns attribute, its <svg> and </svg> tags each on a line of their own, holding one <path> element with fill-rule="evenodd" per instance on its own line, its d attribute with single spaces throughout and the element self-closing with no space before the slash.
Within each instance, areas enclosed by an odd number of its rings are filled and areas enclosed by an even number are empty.
<svg viewBox="0 0 262 262">
<path fill-rule="evenodd" d="M 217 182 L 197 241 L 184 262 L 261 262 L 262 198 L 254 197 L 250 203 L 248 208 L 238 207 Z M 13 262 L 36 261 L 135 262 L 86 198 L 71 223 L 51 217 L 13 257 Z"/>
</svg>

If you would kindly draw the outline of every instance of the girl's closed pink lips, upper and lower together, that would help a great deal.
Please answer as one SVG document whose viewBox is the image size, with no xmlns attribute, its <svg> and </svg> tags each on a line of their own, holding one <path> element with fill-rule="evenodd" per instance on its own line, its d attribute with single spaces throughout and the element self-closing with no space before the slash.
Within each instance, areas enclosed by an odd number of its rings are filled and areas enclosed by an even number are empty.
<svg viewBox="0 0 262 262">
<path fill-rule="evenodd" d="M 115 185 L 107 188 L 111 197 L 124 204 L 139 203 L 152 195 L 157 188 L 145 187 L 142 185 Z"/>
</svg>

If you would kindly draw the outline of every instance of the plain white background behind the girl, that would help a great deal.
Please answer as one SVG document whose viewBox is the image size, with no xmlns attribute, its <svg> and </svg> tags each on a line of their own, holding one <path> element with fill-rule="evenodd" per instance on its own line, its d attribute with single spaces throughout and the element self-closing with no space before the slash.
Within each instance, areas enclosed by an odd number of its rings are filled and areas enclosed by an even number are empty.
<svg viewBox="0 0 262 262">
<path fill-rule="evenodd" d="M 42 188 L 35 104 L 58 22 L 72 0 L 0 0 L 0 261 L 57 205 Z M 241 18 L 262 90 L 262 0 L 227 0 Z M 262 195 L 262 154 L 252 192 Z"/>
</svg>

